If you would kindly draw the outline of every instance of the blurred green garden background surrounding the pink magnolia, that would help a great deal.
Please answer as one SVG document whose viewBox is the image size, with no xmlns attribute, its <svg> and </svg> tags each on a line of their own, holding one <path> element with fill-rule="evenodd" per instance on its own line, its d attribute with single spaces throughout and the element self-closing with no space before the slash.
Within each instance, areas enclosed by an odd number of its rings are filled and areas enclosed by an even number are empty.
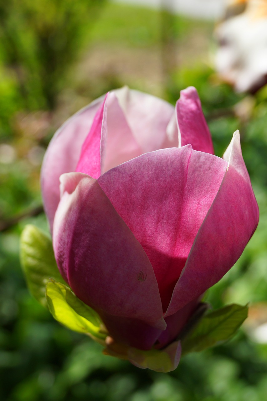
<svg viewBox="0 0 267 401">
<path fill-rule="evenodd" d="M 0 2 L 0 400 L 262 401 L 267 394 L 267 90 L 237 95 L 210 66 L 213 22 L 104 0 Z M 169 374 L 101 354 L 28 293 L 19 263 L 27 223 L 48 230 L 40 164 L 55 130 L 105 91 L 127 84 L 175 103 L 198 89 L 215 152 L 241 131 L 260 207 L 243 255 L 209 290 L 214 308 L 251 304 L 226 344 L 184 357 Z M 257 334 L 258 333 L 258 334 Z"/>
</svg>

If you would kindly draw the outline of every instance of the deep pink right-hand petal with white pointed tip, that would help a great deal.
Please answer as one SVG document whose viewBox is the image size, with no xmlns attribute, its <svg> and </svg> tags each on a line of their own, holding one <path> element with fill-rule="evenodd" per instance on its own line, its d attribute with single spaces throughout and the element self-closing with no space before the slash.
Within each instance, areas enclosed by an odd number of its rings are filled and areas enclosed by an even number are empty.
<svg viewBox="0 0 267 401">
<path fill-rule="evenodd" d="M 213 286 L 234 265 L 254 233 L 259 209 L 242 157 L 239 132 L 225 152 L 229 168 L 200 227 L 166 316 Z"/>
</svg>

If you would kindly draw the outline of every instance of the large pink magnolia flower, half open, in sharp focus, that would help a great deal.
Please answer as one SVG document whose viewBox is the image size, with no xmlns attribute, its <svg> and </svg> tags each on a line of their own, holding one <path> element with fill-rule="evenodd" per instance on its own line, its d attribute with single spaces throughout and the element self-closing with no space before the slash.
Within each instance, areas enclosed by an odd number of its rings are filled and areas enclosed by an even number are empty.
<svg viewBox="0 0 267 401">
<path fill-rule="evenodd" d="M 48 147 L 42 196 L 61 275 L 138 366 L 133 349 L 152 346 L 177 366 L 179 333 L 259 217 L 239 133 L 214 156 L 193 87 L 175 108 L 122 88 L 75 114 Z"/>
</svg>

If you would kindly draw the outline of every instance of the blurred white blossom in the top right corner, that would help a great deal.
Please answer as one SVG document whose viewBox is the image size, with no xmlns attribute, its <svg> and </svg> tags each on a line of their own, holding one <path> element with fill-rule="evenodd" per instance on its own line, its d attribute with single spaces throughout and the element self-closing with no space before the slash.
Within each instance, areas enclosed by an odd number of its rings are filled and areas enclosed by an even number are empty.
<svg viewBox="0 0 267 401">
<path fill-rule="evenodd" d="M 243 11 L 237 14 L 239 11 Z M 215 29 L 218 50 L 215 66 L 237 92 L 251 91 L 267 82 L 267 2 L 231 0 L 227 19 Z"/>
</svg>

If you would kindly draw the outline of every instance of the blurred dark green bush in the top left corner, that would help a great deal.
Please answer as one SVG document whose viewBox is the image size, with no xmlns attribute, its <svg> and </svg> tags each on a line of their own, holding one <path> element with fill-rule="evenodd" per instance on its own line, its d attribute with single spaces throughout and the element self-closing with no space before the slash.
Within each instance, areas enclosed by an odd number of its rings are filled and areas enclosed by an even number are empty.
<svg viewBox="0 0 267 401">
<path fill-rule="evenodd" d="M 84 30 L 105 0 L 0 2 L 0 59 L 18 81 L 28 109 L 53 109 L 79 55 Z"/>
</svg>

